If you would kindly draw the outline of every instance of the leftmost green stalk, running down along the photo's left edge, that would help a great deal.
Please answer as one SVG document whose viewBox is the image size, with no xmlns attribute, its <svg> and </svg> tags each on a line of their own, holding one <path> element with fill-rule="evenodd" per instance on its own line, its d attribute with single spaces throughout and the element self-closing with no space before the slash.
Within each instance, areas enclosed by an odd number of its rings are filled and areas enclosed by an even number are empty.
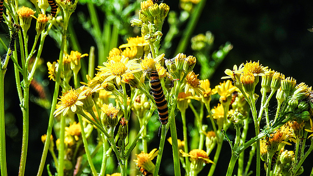
<svg viewBox="0 0 313 176">
<path fill-rule="evenodd" d="M 1 176 L 7 176 L 4 121 L 4 75 L 6 67 L 2 67 L 2 65 L 0 66 L 0 168 Z"/>
</svg>

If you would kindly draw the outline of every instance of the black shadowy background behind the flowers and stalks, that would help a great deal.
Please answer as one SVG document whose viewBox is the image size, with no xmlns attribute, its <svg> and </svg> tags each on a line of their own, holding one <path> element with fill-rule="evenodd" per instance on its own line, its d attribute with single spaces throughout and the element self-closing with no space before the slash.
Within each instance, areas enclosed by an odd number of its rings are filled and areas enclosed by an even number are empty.
<svg viewBox="0 0 313 176">
<path fill-rule="evenodd" d="M 165 2 L 171 10 L 179 11 L 177 0 L 165 0 Z M 234 64 L 239 66 L 241 63 L 250 60 L 260 61 L 263 66 L 279 71 L 285 74 L 286 77 L 292 76 L 297 80 L 297 83 L 305 82 L 307 85 L 312 86 L 313 33 L 307 30 L 313 25 L 312 7 L 313 1 L 306 0 L 207 0 L 194 35 L 209 30 L 215 35 L 214 49 L 218 49 L 226 41 L 231 42 L 234 46 L 213 75 L 213 79 L 210 80 L 211 87 L 213 88 L 221 82 L 220 78 L 224 76 L 226 68 L 232 69 Z M 83 5 L 78 5 L 76 9 L 76 11 L 84 10 L 86 10 L 86 6 Z M 89 47 L 95 45 L 93 40 L 86 31 L 79 27 L 78 22 L 74 26 L 77 35 L 84 36 L 79 38 L 82 46 L 80 52 L 88 53 Z M 166 33 L 166 30 L 167 27 L 164 24 L 163 32 Z M 179 41 L 178 39 L 176 40 Z M 121 43 L 124 42 L 121 41 Z M 45 44 L 42 57 L 45 62 L 55 61 L 59 56 L 59 50 L 54 41 L 47 37 Z M 173 48 L 173 50 L 175 49 Z M 185 54 L 192 54 L 190 47 L 188 47 Z M 167 56 L 167 58 L 171 57 L 174 56 Z M 45 79 L 47 79 L 47 76 Z M 5 75 L 5 83 L 7 166 L 8 175 L 12 176 L 18 174 L 22 144 L 22 112 L 16 93 L 12 63 L 9 64 Z M 50 82 L 51 91 L 53 91 L 53 86 L 54 83 Z M 46 132 L 47 120 L 48 112 L 31 103 L 26 176 L 34 176 L 37 173 L 43 151 L 40 137 Z M 179 122 L 177 128 L 178 131 L 182 132 Z M 180 138 L 182 137 L 180 136 Z M 171 149 L 171 146 L 167 143 L 165 147 Z M 166 151 L 171 154 L 172 150 Z M 225 142 L 219 161 L 224 164 L 217 165 L 215 176 L 225 175 L 230 155 L 229 145 Z M 213 158 L 213 155 L 210 157 Z M 305 173 L 303 176 L 307 176 L 311 172 L 311 158 L 312 154 L 305 162 L 309 164 L 304 165 Z M 50 161 L 51 157 L 48 154 L 46 163 Z M 255 157 L 253 161 L 251 170 L 255 166 Z M 160 170 L 161 175 L 172 175 L 172 161 L 164 160 L 162 163 L 164 165 L 161 168 L 163 167 L 165 170 Z M 265 175 L 262 166 L 261 164 L 261 176 Z M 209 167 L 206 166 L 201 175 L 206 175 L 208 170 Z M 234 170 L 234 173 L 236 173 L 236 170 Z M 46 175 L 46 170 L 43 175 Z"/>
</svg>

